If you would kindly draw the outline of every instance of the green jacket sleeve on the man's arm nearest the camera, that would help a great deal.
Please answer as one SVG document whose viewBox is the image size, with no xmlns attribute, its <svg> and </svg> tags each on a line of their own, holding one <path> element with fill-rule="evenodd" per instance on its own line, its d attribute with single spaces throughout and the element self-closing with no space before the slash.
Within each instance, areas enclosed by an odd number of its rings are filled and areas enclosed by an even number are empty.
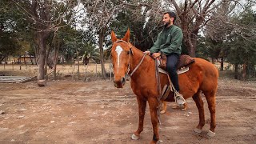
<svg viewBox="0 0 256 144">
<path fill-rule="evenodd" d="M 167 42 L 166 44 L 160 46 L 160 51 L 163 54 L 170 55 L 174 52 L 177 52 L 179 47 L 182 45 L 182 30 L 181 29 L 176 29 L 174 31 L 174 35 L 170 39 L 170 42 Z"/>
</svg>

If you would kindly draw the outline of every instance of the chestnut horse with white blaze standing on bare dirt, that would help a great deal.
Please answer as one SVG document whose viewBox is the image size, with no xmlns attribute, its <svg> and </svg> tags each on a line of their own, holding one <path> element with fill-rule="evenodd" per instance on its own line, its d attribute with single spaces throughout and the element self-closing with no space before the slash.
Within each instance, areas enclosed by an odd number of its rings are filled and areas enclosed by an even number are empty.
<svg viewBox="0 0 256 144">
<path fill-rule="evenodd" d="M 130 86 L 137 96 L 138 101 L 138 130 L 132 135 L 133 139 L 138 139 L 143 130 L 143 121 L 146 110 L 146 101 L 150 106 L 150 116 L 153 125 L 153 139 L 150 143 L 156 143 L 159 140 L 158 134 L 158 107 L 159 91 L 156 78 L 156 68 L 154 59 L 134 47 L 130 42 L 130 30 L 122 39 L 116 38 L 114 31 L 111 32 L 113 42 L 111 55 L 114 66 L 114 86 L 122 88 L 126 82 L 126 74 L 130 74 Z M 194 58 L 195 62 L 190 65 L 190 70 L 179 74 L 180 93 L 184 98 L 192 97 L 198 107 L 199 123 L 194 129 L 201 133 L 205 125 L 205 114 L 201 92 L 205 94 L 210 110 L 210 130 L 209 136 L 214 136 L 215 123 L 215 94 L 218 86 L 217 68 L 201 58 Z M 166 74 L 159 75 L 161 88 L 166 85 L 168 78 Z M 166 101 L 174 101 L 169 95 Z"/>
</svg>

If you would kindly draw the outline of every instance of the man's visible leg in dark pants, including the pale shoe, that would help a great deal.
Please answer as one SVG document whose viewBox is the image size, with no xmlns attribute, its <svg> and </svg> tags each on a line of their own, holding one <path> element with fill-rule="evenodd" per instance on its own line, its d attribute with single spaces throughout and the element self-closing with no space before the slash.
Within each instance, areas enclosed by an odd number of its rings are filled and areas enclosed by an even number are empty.
<svg viewBox="0 0 256 144">
<path fill-rule="evenodd" d="M 166 62 L 166 69 L 167 69 L 168 73 L 170 74 L 170 80 L 171 80 L 171 82 L 173 82 L 175 90 L 177 90 L 179 92 L 178 74 L 177 74 L 177 71 L 176 71 L 178 58 L 179 58 L 178 54 L 168 55 L 167 56 L 167 62 Z M 184 104 L 186 101 L 182 97 L 181 94 L 178 94 L 178 97 L 176 97 L 176 102 L 178 104 Z"/>
</svg>

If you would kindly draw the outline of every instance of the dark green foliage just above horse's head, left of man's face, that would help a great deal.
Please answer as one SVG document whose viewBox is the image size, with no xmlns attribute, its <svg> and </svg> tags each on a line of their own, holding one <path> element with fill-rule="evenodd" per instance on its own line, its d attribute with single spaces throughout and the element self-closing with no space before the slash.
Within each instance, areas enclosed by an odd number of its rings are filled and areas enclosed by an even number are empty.
<svg viewBox="0 0 256 144">
<path fill-rule="evenodd" d="M 138 7 L 138 9 L 141 8 Z M 146 19 L 148 17 L 147 12 L 149 12 L 148 8 L 143 13 L 138 12 L 136 15 L 128 8 L 122 10 L 117 14 L 110 27 L 118 38 L 122 38 L 126 34 L 127 28 L 130 28 L 130 42 L 133 42 L 142 51 L 148 50 L 154 44 L 152 40 L 158 35 L 159 30 L 156 27 L 159 23 L 155 22 L 152 19 L 153 17 Z M 162 15 L 159 14 L 159 17 L 162 17 Z"/>
</svg>

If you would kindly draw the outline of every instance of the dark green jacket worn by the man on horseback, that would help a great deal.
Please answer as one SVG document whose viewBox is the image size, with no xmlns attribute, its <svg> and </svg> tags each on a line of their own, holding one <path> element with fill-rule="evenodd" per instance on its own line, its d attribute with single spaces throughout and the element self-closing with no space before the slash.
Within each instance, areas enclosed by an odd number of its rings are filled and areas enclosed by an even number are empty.
<svg viewBox="0 0 256 144">
<path fill-rule="evenodd" d="M 154 42 L 154 46 L 150 48 L 150 53 L 163 53 L 170 55 L 173 53 L 181 54 L 182 53 L 182 29 L 178 26 L 170 26 L 164 28 L 159 34 L 158 39 Z"/>
</svg>

